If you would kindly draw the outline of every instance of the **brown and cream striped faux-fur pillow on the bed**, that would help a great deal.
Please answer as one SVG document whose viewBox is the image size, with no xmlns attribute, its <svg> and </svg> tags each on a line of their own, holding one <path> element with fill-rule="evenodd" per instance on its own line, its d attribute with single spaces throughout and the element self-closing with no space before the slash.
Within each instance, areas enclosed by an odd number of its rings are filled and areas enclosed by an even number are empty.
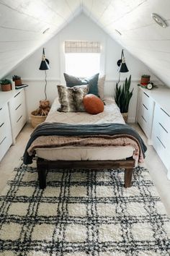
<svg viewBox="0 0 170 256">
<path fill-rule="evenodd" d="M 79 85 L 67 88 L 63 85 L 57 85 L 58 101 L 61 112 L 84 112 L 83 98 L 89 92 L 89 85 Z"/>
</svg>

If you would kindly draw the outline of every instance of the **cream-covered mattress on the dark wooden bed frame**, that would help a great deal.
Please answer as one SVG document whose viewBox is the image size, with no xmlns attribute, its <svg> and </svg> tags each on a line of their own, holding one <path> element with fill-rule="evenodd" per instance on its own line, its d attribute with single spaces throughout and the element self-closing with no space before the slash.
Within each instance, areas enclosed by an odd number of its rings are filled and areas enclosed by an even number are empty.
<svg viewBox="0 0 170 256">
<path fill-rule="evenodd" d="M 58 98 L 55 98 L 45 122 L 61 122 L 64 124 L 106 124 L 119 123 L 125 124 L 120 109 L 112 98 L 106 98 L 104 101 L 104 111 L 97 115 L 91 115 L 86 112 L 58 112 L 60 104 Z M 40 158 L 49 161 L 81 161 L 81 160 L 120 160 L 129 158 L 134 152 L 133 146 L 117 147 L 61 147 L 61 148 L 36 148 L 36 154 Z"/>
</svg>

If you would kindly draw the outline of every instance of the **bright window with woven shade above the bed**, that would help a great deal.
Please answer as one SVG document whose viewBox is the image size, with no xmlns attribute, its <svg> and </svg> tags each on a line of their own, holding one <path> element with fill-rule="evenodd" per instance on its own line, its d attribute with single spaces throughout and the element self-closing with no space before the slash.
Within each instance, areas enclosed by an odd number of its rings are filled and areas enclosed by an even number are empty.
<svg viewBox="0 0 170 256">
<path fill-rule="evenodd" d="M 66 73 L 90 77 L 100 69 L 100 43 L 89 41 L 65 42 Z"/>
</svg>

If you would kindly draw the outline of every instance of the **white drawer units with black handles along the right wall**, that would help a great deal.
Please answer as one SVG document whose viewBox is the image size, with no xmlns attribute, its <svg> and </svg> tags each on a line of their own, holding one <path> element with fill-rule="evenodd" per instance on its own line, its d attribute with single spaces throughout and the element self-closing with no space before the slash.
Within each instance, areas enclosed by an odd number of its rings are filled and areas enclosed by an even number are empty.
<svg viewBox="0 0 170 256">
<path fill-rule="evenodd" d="M 158 153 L 170 179 L 170 89 L 158 86 L 156 90 L 138 87 L 137 122 L 148 137 L 148 144 Z"/>
</svg>

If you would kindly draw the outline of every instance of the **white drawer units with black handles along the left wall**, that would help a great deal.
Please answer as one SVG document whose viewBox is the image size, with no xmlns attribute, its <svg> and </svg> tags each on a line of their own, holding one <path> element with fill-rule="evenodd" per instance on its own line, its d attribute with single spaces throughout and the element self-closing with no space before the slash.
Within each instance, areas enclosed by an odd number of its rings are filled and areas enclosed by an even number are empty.
<svg viewBox="0 0 170 256">
<path fill-rule="evenodd" d="M 24 89 L 0 92 L 0 161 L 26 121 Z"/>
</svg>

